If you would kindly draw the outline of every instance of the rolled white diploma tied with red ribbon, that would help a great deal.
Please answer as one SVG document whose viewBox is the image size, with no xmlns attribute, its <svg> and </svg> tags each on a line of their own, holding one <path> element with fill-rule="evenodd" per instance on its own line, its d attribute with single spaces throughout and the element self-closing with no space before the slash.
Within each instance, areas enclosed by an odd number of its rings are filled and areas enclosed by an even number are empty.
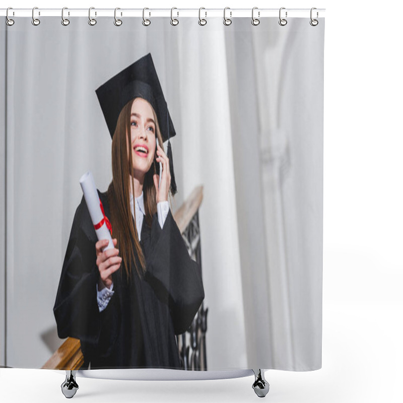
<svg viewBox="0 0 403 403">
<path fill-rule="evenodd" d="M 101 211 L 100 200 L 97 188 L 95 186 L 94 177 L 90 171 L 86 172 L 80 178 L 80 185 L 83 189 L 84 198 L 87 203 L 88 211 L 90 212 L 92 224 L 95 226 L 103 220 L 104 216 Z M 110 232 L 105 222 L 102 224 L 101 228 L 95 230 L 95 233 L 97 234 L 99 241 L 101 239 L 107 239 L 109 241 L 108 245 L 102 250 L 114 248 L 112 237 L 110 236 Z"/>
</svg>

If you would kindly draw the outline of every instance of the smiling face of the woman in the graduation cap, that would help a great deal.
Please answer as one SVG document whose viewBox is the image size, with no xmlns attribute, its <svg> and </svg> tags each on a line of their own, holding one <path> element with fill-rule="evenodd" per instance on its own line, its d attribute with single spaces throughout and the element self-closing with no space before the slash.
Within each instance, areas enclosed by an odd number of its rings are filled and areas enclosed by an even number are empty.
<svg viewBox="0 0 403 403">
<path fill-rule="evenodd" d="M 156 148 L 153 109 L 143 98 L 136 98 L 131 104 L 130 139 L 133 174 L 141 179 L 153 164 Z"/>
</svg>

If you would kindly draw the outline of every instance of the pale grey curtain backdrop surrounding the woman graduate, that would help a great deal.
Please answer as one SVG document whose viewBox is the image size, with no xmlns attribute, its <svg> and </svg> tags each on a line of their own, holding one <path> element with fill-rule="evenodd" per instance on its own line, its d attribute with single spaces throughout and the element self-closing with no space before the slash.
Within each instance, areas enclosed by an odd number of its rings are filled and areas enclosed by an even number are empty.
<svg viewBox="0 0 403 403">
<path fill-rule="evenodd" d="M 202 189 L 196 237 L 182 237 L 198 242 L 203 369 L 320 368 L 324 19 L 15 20 L 0 21 L 0 364 L 41 368 L 64 342 L 53 307 L 79 180 L 91 171 L 105 192 L 113 178 L 95 91 L 151 54 L 176 131 L 172 217 Z M 186 369 L 191 338 L 175 334 Z"/>
</svg>

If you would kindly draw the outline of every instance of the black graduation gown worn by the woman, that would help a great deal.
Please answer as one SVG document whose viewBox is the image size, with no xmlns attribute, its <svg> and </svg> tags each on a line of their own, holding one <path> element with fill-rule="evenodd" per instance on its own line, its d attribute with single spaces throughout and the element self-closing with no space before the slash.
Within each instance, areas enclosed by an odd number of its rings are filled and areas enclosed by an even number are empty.
<svg viewBox="0 0 403 403">
<path fill-rule="evenodd" d="M 106 193 L 99 192 L 110 217 Z M 113 231 L 113 223 L 112 223 Z M 80 339 L 84 366 L 94 368 L 180 368 L 175 334 L 190 326 L 204 299 L 199 265 L 190 258 L 169 211 L 161 229 L 143 220 L 141 247 L 146 274 L 123 265 L 112 275 L 114 295 L 99 312 L 97 237 L 84 197 L 73 220 L 53 312 L 59 338 Z M 117 245 L 117 247 L 119 247 Z"/>
</svg>

